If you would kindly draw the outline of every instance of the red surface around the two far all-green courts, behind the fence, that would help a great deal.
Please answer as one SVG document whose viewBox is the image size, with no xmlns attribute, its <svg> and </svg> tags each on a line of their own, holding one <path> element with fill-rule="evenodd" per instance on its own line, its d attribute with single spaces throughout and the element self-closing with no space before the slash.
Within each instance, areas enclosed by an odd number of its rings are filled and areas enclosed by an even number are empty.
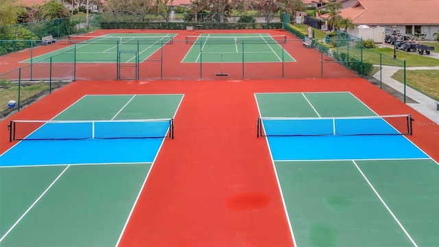
<svg viewBox="0 0 439 247">
<path fill-rule="evenodd" d="M 307 49 L 303 47 L 302 40 L 299 40 L 285 30 L 97 30 L 85 36 L 103 36 L 116 34 L 133 33 L 137 35 L 163 35 L 176 34 L 173 45 L 164 45 L 163 49 L 156 51 L 155 54 L 147 60 L 139 63 L 139 78 L 141 80 L 242 80 L 242 79 L 282 79 L 282 78 L 351 78 L 357 75 L 348 69 L 342 67 L 337 62 L 333 62 L 327 56 L 316 49 Z M 228 73 L 227 77 L 215 76 L 215 73 L 221 71 L 219 63 L 182 63 L 181 61 L 187 55 L 191 44 L 185 43 L 187 36 L 198 36 L 200 34 L 224 34 L 233 36 L 233 34 L 248 34 L 258 36 L 259 34 L 270 34 L 271 36 L 285 35 L 287 42 L 279 44 L 290 54 L 296 62 L 234 62 L 224 63 L 224 72 Z M 80 45 L 80 43 L 78 44 Z M 29 65 L 22 61 L 37 56 L 47 54 L 51 51 L 69 47 L 73 49 L 67 40 L 58 40 L 58 42 L 25 49 L 13 54 L 0 56 L 0 74 Z M 245 46 L 243 50 L 245 49 Z M 73 59 L 73 52 L 71 53 Z M 116 56 L 116 54 L 114 55 Z M 263 54 L 261 54 L 263 56 Z M 91 54 L 93 58 L 93 54 Z M 36 62 L 38 58 L 33 61 Z M 116 59 L 115 59 L 116 60 Z M 323 62 L 321 62 L 323 61 Z M 47 80 L 49 78 L 49 64 L 36 63 L 32 66 L 33 80 Z M 121 69 L 120 78 L 135 79 L 134 67 L 124 67 Z M 21 78 L 26 80 L 30 78 L 31 69 L 29 66 L 22 69 Z M 5 77 L 18 78 L 18 71 L 10 73 Z M 115 63 L 91 63 L 78 61 L 71 63 L 54 63 L 52 64 L 52 78 L 64 80 L 117 80 L 117 65 Z"/>
</svg>

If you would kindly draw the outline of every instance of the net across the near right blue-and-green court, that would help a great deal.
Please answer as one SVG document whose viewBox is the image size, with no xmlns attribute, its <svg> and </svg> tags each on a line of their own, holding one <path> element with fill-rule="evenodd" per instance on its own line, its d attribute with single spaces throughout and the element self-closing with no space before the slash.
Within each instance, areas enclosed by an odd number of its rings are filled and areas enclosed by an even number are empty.
<svg viewBox="0 0 439 247">
<path fill-rule="evenodd" d="M 412 115 L 258 117 L 258 137 L 412 134 Z"/>
</svg>

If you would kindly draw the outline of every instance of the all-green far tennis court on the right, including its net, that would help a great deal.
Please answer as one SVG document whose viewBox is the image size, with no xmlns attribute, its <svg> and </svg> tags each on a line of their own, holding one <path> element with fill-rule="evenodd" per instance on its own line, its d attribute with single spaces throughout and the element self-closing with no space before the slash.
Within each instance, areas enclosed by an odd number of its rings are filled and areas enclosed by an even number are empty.
<svg viewBox="0 0 439 247">
<path fill-rule="evenodd" d="M 186 36 L 191 49 L 182 62 L 296 62 L 284 49 L 285 35 L 200 34 Z"/>
</svg>

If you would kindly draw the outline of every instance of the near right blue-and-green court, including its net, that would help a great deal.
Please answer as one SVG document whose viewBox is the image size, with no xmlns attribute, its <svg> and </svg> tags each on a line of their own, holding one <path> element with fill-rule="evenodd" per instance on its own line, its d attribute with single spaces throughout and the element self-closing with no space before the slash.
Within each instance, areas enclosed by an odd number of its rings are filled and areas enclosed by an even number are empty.
<svg viewBox="0 0 439 247">
<path fill-rule="evenodd" d="M 349 92 L 255 97 L 295 246 L 439 244 L 438 163 L 403 135 L 410 116 Z"/>
</svg>

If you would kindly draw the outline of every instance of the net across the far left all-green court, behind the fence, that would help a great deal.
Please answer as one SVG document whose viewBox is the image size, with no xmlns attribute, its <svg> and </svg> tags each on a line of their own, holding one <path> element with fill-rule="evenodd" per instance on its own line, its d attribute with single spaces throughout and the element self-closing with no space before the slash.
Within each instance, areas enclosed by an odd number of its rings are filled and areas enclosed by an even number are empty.
<svg viewBox="0 0 439 247">
<path fill-rule="evenodd" d="M 165 45 L 174 44 L 174 36 L 84 36 L 71 35 L 67 38 L 69 44 L 93 44 L 93 43 L 108 43 L 108 44 L 150 44 L 150 45 Z"/>
</svg>

